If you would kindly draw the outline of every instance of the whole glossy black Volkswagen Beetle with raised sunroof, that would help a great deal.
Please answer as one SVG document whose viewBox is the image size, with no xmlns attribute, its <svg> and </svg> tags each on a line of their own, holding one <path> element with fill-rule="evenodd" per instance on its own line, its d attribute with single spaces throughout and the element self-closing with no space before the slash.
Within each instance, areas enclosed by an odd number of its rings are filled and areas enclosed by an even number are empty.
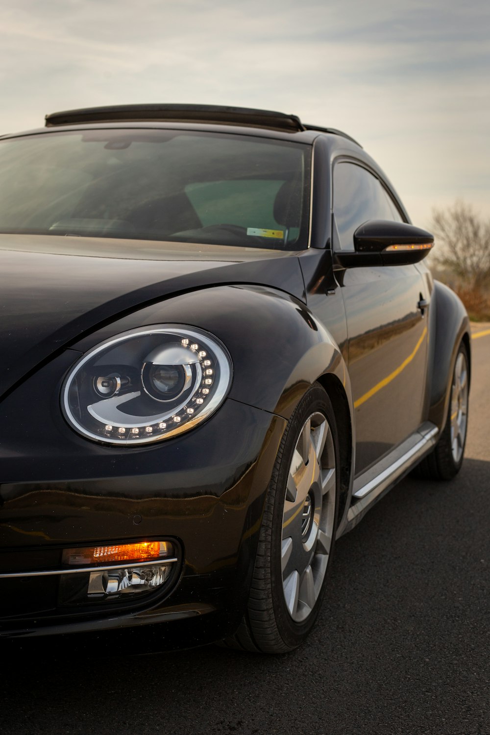
<svg viewBox="0 0 490 735">
<path fill-rule="evenodd" d="M 0 232 L 2 636 L 291 650 L 335 539 L 460 469 L 464 306 L 348 135 L 54 113 L 0 140 Z"/>
</svg>

